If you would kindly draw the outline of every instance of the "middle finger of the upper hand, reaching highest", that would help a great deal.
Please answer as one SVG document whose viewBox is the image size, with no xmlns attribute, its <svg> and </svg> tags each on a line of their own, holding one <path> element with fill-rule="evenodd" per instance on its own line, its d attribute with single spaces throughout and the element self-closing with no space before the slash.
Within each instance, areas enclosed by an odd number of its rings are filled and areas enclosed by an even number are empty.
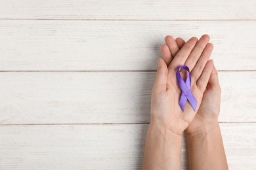
<svg viewBox="0 0 256 170">
<path fill-rule="evenodd" d="M 193 70 L 196 62 L 200 58 L 205 46 L 210 41 L 209 35 L 203 35 L 200 40 L 196 43 L 196 46 L 192 50 L 191 54 L 189 55 L 188 59 L 186 59 L 185 65 L 188 66 L 190 71 Z M 207 59 L 208 60 L 208 59 Z"/>
</svg>

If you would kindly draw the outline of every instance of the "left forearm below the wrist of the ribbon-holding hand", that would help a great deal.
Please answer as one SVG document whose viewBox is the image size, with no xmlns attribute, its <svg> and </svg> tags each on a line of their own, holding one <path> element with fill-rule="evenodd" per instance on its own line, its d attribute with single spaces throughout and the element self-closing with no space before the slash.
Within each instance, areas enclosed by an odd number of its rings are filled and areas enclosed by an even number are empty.
<svg viewBox="0 0 256 170">
<path fill-rule="evenodd" d="M 181 135 L 150 123 L 142 169 L 181 169 Z"/>
</svg>

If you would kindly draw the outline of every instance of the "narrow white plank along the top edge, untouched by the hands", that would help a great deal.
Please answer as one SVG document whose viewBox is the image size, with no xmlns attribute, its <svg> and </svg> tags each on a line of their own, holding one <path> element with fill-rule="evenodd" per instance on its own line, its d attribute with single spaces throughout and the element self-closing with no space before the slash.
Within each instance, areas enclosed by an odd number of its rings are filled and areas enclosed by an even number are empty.
<svg viewBox="0 0 256 170">
<path fill-rule="evenodd" d="M 256 2 L 247 1 L 40 1 L 1 3 L 1 19 L 58 20 L 255 20 Z"/>
</svg>

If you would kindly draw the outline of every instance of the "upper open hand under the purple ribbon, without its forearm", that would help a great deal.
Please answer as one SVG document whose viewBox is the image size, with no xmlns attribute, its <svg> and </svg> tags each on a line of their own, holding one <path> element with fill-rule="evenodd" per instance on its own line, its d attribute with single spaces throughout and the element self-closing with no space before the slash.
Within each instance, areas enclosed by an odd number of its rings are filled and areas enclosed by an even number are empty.
<svg viewBox="0 0 256 170">
<path fill-rule="evenodd" d="M 213 61 L 208 61 L 213 45 L 208 43 L 208 35 L 203 35 L 199 41 L 192 37 L 181 50 L 179 46 L 169 46 L 171 43 L 168 41 L 174 41 L 174 39 L 166 37 L 167 44 L 161 48 L 166 63 L 163 59 L 158 59 L 158 71 L 151 98 L 151 122 L 181 135 L 192 122 L 201 105 L 203 93 L 213 69 Z M 176 50 L 172 50 L 174 48 Z M 198 102 L 196 111 L 188 101 L 184 112 L 179 106 L 181 89 L 177 84 L 176 71 L 180 65 L 187 65 L 190 71 L 192 70 L 190 91 Z"/>
</svg>

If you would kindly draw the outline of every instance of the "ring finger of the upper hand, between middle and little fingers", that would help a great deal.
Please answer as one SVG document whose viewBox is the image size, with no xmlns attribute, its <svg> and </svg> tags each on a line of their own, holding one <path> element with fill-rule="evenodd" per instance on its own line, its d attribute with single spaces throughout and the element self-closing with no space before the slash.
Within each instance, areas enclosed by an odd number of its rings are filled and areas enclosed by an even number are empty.
<svg viewBox="0 0 256 170">
<path fill-rule="evenodd" d="M 213 44 L 208 43 L 205 46 L 205 49 L 203 50 L 202 55 L 198 59 L 198 62 L 196 63 L 194 69 L 191 72 L 191 78 L 192 82 L 193 80 L 196 81 L 202 74 L 203 68 L 205 67 L 205 64 L 207 63 L 208 59 L 211 56 L 211 52 L 213 51 Z"/>
</svg>

